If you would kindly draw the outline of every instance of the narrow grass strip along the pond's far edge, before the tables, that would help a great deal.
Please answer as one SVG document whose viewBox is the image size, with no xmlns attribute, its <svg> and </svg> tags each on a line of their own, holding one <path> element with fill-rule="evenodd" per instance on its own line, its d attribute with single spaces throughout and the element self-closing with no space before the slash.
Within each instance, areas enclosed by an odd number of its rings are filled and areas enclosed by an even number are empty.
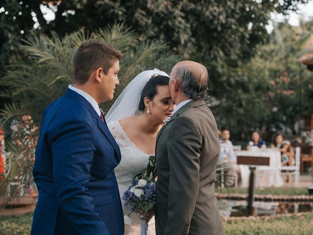
<svg viewBox="0 0 313 235">
<path fill-rule="evenodd" d="M 248 193 L 247 188 L 219 188 L 218 193 Z M 307 188 L 255 188 L 254 194 L 309 195 Z"/>
</svg>

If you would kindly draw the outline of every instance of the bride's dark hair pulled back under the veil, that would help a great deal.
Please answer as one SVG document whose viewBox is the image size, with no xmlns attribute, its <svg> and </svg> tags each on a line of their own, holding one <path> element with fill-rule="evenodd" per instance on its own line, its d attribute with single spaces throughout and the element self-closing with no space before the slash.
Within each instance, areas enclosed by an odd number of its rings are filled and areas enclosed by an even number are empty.
<svg viewBox="0 0 313 235">
<path fill-rule="evenodd" d="M 145 87 L 142 90 L 142 94 L 140 97 L 140 102 L 139 102 L 139 111 L 144 111 L 145 109 L 145 102 L 144 98 L 147 97 L 150 100 L 153 100 L 153 98 L 157 94 L 156 87 L 157 86 L 168 86 L 170 78 L 167 76 L 162 76 L 162 75 L 156 75 L 155 77 L 151 77 L 151 79 L 147 82 Z"/>
</svg>

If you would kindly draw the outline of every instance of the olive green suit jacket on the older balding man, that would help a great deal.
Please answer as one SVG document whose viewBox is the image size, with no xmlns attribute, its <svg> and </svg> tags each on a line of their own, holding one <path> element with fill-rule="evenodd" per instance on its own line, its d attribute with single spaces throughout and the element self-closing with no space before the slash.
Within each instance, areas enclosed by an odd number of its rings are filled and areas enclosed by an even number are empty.
<svg viewBox="0 0 313 235">
<path fill-rule="evenodd" d="M 215 196 L 220 142 L 203 100 L 179 108 L 156 138 L 156 235 L 222 235 Z"/>
</svg>

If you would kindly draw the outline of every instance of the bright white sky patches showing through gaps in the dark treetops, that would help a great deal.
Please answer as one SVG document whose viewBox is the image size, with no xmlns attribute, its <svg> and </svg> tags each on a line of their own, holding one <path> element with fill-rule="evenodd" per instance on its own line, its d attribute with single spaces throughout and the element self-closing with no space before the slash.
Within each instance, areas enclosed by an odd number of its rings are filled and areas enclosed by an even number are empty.
<svg viewBox="0 0 313 235">
<path fill-rule="evenodd" d="M 307 4 L 298 4 L 298 12 L 290 12 L 289 15 L 284 16 L 283 14 L 277 14 L 277 13 L 271 13 L 271 21 L 269 22 L 268 25 L 266 25 L 266 28 L 268 30 L 268 33 L 270 33 L 273 30 L 273 24 L 275 22 L 282 22 L 284 20 L 288 20 L 288 23 L 291 24 L 292 26 L 298 26 L 300 19 L 304 19 L 305 21 L 308 21 L 311 18 L 313 18 L 313 0 L 309 0 L 309 3 Z M 41 5 L 40 6 L 41 11 L 44 14 L 44 18 L 46 21 L 53 21 L 55 18 L 54 11 L 57 9 L 54 8 L 51 10 L 50 8 Z M 75 14 L 73 11 L 68 11 L 68 14 Z M 67 14 L 64 13 L 64 14 Z M 37 22 L 36 16 L 34 16 L 34 21 Z M 38 23 L 34 25 L 34 28 L 37 28 L 39 26 Z"/>
</svg>

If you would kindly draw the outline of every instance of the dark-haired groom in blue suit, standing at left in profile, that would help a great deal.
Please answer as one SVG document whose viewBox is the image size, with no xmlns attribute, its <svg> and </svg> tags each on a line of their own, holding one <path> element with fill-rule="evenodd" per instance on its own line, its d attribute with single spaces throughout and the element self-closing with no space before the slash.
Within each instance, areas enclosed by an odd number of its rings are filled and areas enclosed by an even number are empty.
<svg viewBox="0 0 313 235">
<path fill-rule="evenodd" d="M 98 40 L 73 57 L 74 85 L 44 111 L 33 176 L 32 235 L 123 235 L 114 168 L 121 153 L 98 103 L 111 100 L 123 54 Z"/>
</svg>

